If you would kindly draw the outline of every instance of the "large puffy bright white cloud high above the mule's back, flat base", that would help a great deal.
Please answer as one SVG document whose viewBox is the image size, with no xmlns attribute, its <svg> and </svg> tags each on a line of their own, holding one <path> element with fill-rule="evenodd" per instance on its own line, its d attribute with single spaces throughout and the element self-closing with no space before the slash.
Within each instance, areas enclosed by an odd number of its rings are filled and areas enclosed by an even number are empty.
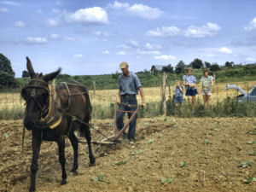
<svg viewBox="0 0 256 192">
<path fill-rule="evenodd" d="M 105 9 L 93 7 L 67 14 L 66 20 L 67 22 L 108 24 L 108 14 Z"/>
</svg>

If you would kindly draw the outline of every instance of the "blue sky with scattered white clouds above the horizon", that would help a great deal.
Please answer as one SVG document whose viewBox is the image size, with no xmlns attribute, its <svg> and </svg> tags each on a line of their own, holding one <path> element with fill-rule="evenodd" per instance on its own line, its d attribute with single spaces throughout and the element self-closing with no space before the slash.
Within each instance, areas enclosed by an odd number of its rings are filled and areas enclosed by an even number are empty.
<svg viewBox="0 0 256 192">
<path fill-rule="evenodd" d="M 37 72 L 115 73 L 154 65 L 256 61 L 253 0 L 0 0 L 0 53 L 16 77 Z"/>
</svg>

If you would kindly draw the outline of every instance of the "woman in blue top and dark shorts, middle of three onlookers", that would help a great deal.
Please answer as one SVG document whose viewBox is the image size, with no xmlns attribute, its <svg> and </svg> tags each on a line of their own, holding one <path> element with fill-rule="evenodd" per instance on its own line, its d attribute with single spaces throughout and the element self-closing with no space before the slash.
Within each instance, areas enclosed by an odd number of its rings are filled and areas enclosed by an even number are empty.
<svg viewBox="0 0 256 192">
<path fill-rule="evenodd" d="M 187 68 L 187 74 L 183 76 L 183 85 L 186 88 L 186 96 L 189 99 L 189 105 L 192 109 L 195 108 L 195 96 L 197 93 L 195 82 L 196 78 L 192 75 L 193 69 L 191 67 Z"/>
</svg>

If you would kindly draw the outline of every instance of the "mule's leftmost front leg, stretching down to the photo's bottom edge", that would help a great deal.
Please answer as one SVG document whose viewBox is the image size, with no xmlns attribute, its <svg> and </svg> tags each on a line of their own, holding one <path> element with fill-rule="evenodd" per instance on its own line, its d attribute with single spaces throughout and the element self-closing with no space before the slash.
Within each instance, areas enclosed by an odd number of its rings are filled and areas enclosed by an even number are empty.
<svg viewBox="0 0 256 192">
<path fill-rule="evenodd" d="M 34 133 L 34 132 L 33 132 Z M 31 183 L 29 191 L 36 190 L 36 174 L 38 172 L 38 155 L 40 152 L 41 138 L 32 134 L 32 164 L 31 164 Z"/>
</svg>

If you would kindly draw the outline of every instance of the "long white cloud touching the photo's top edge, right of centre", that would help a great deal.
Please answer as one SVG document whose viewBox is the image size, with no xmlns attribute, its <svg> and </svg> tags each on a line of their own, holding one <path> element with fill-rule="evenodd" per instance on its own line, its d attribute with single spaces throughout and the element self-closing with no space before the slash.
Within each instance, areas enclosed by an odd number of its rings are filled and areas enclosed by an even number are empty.
<svg viewBox="0 0 256 192">
<path fill-rule="evenodd" d="M 154 20 L 160 17 L 162 11 L 158 8 L 151 8 L 144 4 L 134 3 L 130 5 L 129 3 L 119 3 L 115 1 L 113 4 L 108 4 L 108 7 L 125 11 L 130 15 L 135 15 L 142 17 L 143 19 Z"/>
</svg>

